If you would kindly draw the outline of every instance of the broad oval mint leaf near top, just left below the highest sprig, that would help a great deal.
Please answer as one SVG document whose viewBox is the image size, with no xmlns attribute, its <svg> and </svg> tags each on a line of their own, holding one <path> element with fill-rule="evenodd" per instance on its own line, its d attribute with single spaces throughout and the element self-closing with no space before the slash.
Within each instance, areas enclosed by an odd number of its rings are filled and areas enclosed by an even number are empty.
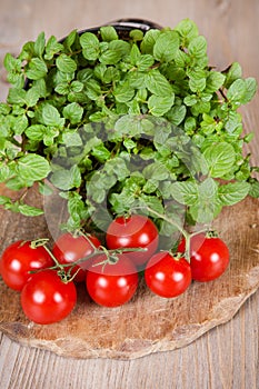
<svg viewBox="0 0 259 389">
<path fill-rule="evenodd" d="M 160 62 L 170 62 L 179 49 L 179 36 L 176 31 L 163 31 L 153 46 L 153 57 Z"/>
</svg>

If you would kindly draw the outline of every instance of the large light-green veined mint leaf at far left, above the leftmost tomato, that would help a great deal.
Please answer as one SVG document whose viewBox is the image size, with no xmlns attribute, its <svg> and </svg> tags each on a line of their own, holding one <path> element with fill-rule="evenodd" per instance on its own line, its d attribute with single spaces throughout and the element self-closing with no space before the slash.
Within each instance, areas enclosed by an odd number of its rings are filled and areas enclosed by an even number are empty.
<svg viewBox="0 0 259 389">
<path fill-rule="evenodd" d="M 24 181 L 40 181 L 49 174 L 50 166 L 43 157 L 30 153 L 19 158 L 17 171 Z"/>
</svg>

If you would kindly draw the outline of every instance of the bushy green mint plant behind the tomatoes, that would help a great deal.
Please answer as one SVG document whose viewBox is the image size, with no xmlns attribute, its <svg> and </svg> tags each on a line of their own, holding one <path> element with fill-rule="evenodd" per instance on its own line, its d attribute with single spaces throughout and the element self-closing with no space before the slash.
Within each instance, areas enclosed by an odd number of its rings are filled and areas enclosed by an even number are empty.
<svg viewBox="0 0 259 389">
<path fill-rule="evenodd" d="M 0 103 L 0 182 L 21 192 L 0 197 L 6 209 L 43 213 L 27 203 L 37 184 L 67 200 L 69 230 L 151 209 L 170 236 L 159 213 L 210 223 L 222 207 L 259 197 L 239 113 L 257 82 L 238 62 L 216 70 L 193 21 L 127 37 L 112 26 L 62 41 L 41 32 L 4 67 L 12 86 Z"/>
</svg>

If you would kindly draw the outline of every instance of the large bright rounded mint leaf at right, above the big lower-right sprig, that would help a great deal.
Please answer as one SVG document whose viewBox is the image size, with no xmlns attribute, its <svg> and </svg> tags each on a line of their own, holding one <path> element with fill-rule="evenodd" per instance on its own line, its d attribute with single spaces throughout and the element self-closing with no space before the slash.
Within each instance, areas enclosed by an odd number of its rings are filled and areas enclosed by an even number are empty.
<svg viewBox="0 0 259 389">
<path fill-rule="evenodd" d="M 236 161 L 233 147 L 227 142 L 211 144 L 203 151 L 209 167 L 209 174 L 215 178 L 223 177 Z"/>
</svg>

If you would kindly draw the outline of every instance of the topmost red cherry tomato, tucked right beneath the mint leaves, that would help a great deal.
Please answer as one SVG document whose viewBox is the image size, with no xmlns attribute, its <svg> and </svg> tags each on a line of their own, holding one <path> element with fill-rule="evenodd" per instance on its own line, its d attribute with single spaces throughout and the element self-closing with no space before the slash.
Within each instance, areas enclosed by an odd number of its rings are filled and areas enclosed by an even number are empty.
<svg viewBox="0 0 259 389">
<path fill-rule="evenodd" d="M 127 252 L 137 267 L 143 266 L 158 248 L 158 229 L 142 215 L 129 218 L 118 217 L 107 230 L 106 241 L 109 249 L 142 248 L 146 251 Z"/>
</svg>

